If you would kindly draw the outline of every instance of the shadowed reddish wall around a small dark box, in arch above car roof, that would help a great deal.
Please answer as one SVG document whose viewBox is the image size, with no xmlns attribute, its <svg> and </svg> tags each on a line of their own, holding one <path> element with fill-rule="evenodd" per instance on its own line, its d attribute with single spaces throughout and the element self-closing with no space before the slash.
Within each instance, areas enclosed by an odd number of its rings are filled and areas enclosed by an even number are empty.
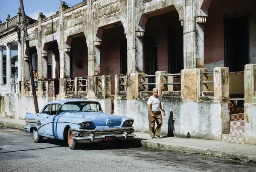
<svg viewBox="0 0 256 172">
<path fill-rule="evenodd" d="M 88 50 L 86 45 L 86 38 L 83 36 L 72 39 L 71 50 L 73 53 L 73 77 L 88 76 Z M 76 68 L 76 61 L 82 60 L 83 67 Z"/>
</svg>

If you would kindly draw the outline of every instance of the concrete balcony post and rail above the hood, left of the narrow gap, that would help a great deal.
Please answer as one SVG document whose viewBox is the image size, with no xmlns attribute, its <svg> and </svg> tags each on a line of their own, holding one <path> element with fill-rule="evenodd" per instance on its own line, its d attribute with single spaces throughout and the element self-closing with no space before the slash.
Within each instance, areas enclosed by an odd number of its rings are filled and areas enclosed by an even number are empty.
<svg viewBox="0 0 256 172">
<path fill-rule="evenodd" d="M 95 98 L 111 99 L 111 75 L 94 76 Z"/>
</svg>

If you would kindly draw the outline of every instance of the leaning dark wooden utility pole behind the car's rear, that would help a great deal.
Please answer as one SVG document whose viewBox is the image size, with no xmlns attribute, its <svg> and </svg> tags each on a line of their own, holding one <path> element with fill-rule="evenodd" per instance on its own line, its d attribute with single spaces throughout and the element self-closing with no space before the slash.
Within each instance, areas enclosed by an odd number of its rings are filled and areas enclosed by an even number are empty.
<svg viewBox="0 0 256 172">
<path fill-rule="evenodd" d="M 25 10 L 24 10 L 24 6 L 23 6 L 23 0 L 20 0 L 20 8 L 21 8 L 24 39 L 26 42 L 26 51 L 27 51 L 27 55 L 29 57 L 28 58 L 29 59 L 29 74 L 30 74 L 30 81 L 31 81 L 31 87 L 32 87 L 32 94 L 33 94 L 33 98 L 34 98 L 35 113 L 39 113 L 38 101 L 37 101 L 37 96 L 36 96 L 36 91 L 35 91 L 34 73 L 33 73 L 33 68 L 32 68 L 32 59 L 30 56 L 29 37 L 28 37 L 27 29 L 26 29 L 26 16 L 25 16 Z"/>
</svg>

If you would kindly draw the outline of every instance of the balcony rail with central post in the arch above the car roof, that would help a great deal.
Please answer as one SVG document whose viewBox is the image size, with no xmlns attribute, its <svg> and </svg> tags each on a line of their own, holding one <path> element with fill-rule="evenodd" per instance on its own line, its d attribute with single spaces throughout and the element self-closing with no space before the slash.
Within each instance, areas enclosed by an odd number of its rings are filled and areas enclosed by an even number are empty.
<svg viewBox="0 0 256 172">
<path fill-rule="evenodd" d="M 75 77 L 74 79 L 66 79 L 67 95 L 87 95 L 87 78 Z"/>
</svg>

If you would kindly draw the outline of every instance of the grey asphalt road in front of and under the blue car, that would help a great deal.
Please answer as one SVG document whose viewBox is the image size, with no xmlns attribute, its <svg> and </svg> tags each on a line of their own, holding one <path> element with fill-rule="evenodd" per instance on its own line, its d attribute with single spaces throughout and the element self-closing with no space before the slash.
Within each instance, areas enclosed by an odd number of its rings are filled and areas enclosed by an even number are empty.
<svg viewBox="0 0 256 172">
<path fill-rule="evenodd" d="M 0 127 L 0 172 L 255 172 L 256 164 L 221 158 L 166 152 L 132 141 L 84 144 L 77 150 L 62 141 L 34 143 L 31 133 Z"/>
</svg>

